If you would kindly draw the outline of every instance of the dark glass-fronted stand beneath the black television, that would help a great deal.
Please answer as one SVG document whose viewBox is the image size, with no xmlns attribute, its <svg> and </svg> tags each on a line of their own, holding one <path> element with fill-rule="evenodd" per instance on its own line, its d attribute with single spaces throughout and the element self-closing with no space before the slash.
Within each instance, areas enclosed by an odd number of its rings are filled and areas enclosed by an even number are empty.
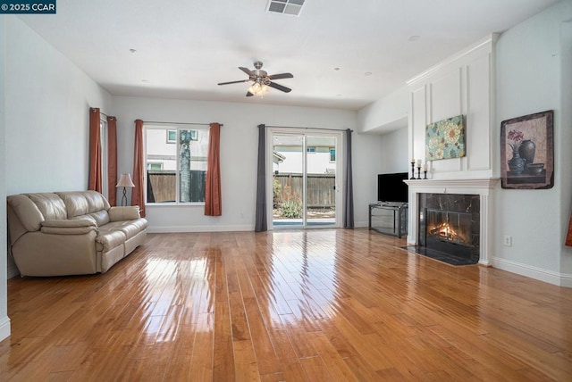
<svg viewBox="0 0 572 382">
<path fill-rule="evenodd" d="M 401 238 L 408 231 L 408 203 L 369 203 L 368 227 L 370 230 Z"/>
</svg>

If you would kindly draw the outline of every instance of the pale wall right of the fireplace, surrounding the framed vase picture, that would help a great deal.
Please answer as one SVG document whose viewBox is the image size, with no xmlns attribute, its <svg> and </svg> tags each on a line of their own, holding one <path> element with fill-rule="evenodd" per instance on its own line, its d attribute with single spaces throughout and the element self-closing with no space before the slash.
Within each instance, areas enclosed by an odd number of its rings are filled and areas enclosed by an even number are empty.
<svg viewBox="0 0 572 382">
<path fill-rule="evenodd" d="M 496 129 L 501 121 L 554 110 L 554 187 L 546 190 L 503 189 L 495 213 L 496 267 L 546 281 L 572 286 L 572 252 L 564 231 L 570 212 L 570 58 L 569 30 L 572 2 L 563 1 L 504 32 L 496 45 Z M 566 33 L 560 38 L 561 31 Z M 565 46 L 562 46 L 565 43 Z M 567 60 L 563 60 L 561 55 Z M 562 79 L 566 82 L 562 82 Z M 567 92 L 561 95 L 561 91 Z M 564 103 L 563 103 L 564 101 Z M 563 124 L 562 122 L 566 123 Z M 497 164 L 498 165 L 498 164 Z M 512 246 L 501 236 L 512 236 Z M 561 267 L 561 264 L 564 264 Z M 564 270 L 564 271 L 563 271 Z"/>
</svg>

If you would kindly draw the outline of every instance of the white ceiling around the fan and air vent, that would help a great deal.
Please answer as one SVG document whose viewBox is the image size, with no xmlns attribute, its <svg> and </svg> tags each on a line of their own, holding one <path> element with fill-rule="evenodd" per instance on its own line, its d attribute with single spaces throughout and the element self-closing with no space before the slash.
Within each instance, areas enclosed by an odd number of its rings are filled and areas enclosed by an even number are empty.
<svg viewBox="0 0 572 382">
<path fill-rule="evenodd" d="M 57 0 L 55 15 L 20 18 L 113 95 L 357 110 L 557 2 L 306 0 L 295 17 L 267 0 Z M 255 61 L 291 72 L 276 82 L 292 91 L 216 85 Z"/>
</svg>

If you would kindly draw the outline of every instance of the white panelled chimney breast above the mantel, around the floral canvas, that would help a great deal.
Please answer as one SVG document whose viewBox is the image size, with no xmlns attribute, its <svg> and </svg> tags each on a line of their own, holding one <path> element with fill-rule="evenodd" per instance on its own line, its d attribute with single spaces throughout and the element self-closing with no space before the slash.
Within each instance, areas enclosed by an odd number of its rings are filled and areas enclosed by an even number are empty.
<svg viewBox="0 0 572 382">
<path fill-rule="evenodd" d="M 493 41 L 485 37 L 408 81 L 408 158 L 425 162 L 428 124 L 466 116 L 466 156 L 428 162 L 430 179 L 488 179 L 494 174 Z"/>
</svg>

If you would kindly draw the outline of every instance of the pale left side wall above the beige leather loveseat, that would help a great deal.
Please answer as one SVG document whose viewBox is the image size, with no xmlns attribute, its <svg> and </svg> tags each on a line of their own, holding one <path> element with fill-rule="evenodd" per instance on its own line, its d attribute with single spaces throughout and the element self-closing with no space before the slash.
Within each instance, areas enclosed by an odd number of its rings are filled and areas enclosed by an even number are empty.
<svg viewBox="0 0 572 382">
<path fill-rule="evenodd" d="M 8 195 L 88 187 L 88 110 L 111 95 L 16 17 L 7 19 Z"/>
</svg>

